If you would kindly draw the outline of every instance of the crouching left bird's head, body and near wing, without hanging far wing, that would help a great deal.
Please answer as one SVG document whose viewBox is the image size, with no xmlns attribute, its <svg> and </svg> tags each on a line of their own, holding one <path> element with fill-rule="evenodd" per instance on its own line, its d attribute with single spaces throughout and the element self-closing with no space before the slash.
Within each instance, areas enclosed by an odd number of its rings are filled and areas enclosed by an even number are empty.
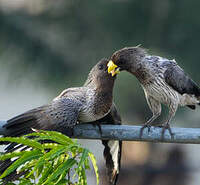
<svg viewBox="0 0 200 185">
<path fill-rule="evenodd" d="M 31 128 L 57 130 L 79 122 L 92 122 L 110 112 L 115 77 L 107 74 L 107 59 L 97 63 L 88 75 L 84 86 L 68 88 L 50 104 L 44 105 L 7 121 L 4 136 L 19 136 L 32 132 Z"/>
</svg>

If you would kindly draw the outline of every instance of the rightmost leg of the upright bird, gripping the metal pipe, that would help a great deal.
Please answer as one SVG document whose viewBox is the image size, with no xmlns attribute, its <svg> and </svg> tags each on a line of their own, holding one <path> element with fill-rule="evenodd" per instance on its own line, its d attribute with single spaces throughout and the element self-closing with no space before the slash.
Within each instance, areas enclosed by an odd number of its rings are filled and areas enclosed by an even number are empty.
<svg viewBox="0 0 200 185">
<path fill-rule="evenodd" d="M 165 134 L 166 129 L 169 131 L 171 138 L 174 139 L 174 133 L 172 132 L 169 123 L 170 123 L 171 119 L 174 117 L 177 108 L 178 108 L 177 105 L 172 105 L 172 106 L 169 107 L 169 115 L 168 115 L 167 121 L 164 124 L 161 125 L 161 127 L 162 127 L 161 139 L 162 140 L 164 139 L 164 134 Z"/>
</svg>

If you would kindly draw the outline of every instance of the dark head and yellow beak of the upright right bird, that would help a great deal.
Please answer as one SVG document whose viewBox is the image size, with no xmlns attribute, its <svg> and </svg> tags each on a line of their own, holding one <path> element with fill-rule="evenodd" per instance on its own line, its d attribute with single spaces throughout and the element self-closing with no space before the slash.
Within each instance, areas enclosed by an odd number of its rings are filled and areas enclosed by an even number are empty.
<svg viewBox="0 0 200 185">
<path fill-rule="evenodd" d="M 126 47 L 113 53 L 108 62 L 108 73 L 115 75 L 119 71 L 127 70 L 134 73 L 137 64 L 146 55 L 145 49 L 140 46 Z"/>
</svg>

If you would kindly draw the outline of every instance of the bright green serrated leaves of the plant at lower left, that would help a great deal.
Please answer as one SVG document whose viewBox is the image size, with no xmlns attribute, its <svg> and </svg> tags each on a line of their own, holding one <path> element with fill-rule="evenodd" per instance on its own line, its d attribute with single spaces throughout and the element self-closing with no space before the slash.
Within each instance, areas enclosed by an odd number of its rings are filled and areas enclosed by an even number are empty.
<svg viewBox="0 0 200 185">
<path fill-rule="evenodd" d="M 35 131 L 22 137 L 0 138 L 0 141 L 14 142 L 29 148 L 29 151 L 0 154 L 1 161 L 14 159 L 1 174 L 0 183 L 17 171 L 25 172 L 17 181 L 20 185 L 87 185 L 86 170 L 90 169 L 90 159 L 99 184 L 96 159 L 88 149 L 59 132 Z M 15 182 L 10 181 L 7 185 L 15 185 Z"/>
</svg>

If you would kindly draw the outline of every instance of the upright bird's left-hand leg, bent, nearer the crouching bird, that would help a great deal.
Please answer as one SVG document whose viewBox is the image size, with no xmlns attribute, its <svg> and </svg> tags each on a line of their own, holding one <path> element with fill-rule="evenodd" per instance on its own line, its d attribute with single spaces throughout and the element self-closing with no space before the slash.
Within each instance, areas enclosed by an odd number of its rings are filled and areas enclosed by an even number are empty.
<svg viewBox="0 0 200 185">
<path fill-rule="evenodd" d="M 153 97 L 148 96 L 146 91 L 145 92 L 145 96 L 147 99 L 147 103 L 149 105 L 149 108 L 151 109 L 153 116 L 142 126 L 142 128 L 140 129 L 140 138 L 142 137 L 143 134 L 143 130 L 145 128 L 148 128 L 148 132 L 150 132 L 150 128 L 152 126 L 152 122 L 158 118 L 161 114 L 161 104 L 160 102 L 158 102 L 157 100 L 155 100 Z"/>
</svg>

